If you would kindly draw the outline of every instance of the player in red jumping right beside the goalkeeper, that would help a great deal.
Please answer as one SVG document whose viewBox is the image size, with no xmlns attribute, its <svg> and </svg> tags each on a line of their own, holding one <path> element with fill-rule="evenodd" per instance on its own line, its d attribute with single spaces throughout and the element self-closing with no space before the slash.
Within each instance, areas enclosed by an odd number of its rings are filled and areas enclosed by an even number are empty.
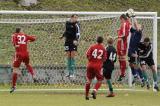
<svg viewBox="0 0 160 106">
<path fill-rule="evenodd" d="M 127 54 L 127 40 L 130 32 L 130 21 L 125 14 L 120 16 L 121 26 L 118 30 L 118 42 L 117 42 L 117 54 L 119 57 L 119 64 L 121 75 L 118 81 L 122 81 L 122 78 L 125 77 L 126 70 L 126 54 Z"/>
</svg>

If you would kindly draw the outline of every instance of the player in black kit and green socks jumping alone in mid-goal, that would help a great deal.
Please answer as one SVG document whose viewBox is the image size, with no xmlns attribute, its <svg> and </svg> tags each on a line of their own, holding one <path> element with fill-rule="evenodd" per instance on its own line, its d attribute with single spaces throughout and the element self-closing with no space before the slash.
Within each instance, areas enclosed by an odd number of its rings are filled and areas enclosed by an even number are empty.
<svg viewBox="0 0 160 106">
<path fill-rule="evenodd" d="M 62 38 L 65 38 L 65 51 L 67 55 L 67 69 L 66 77 L 73 78 L 75 73 L 75 54 L 77 51 L 78 40 L 80 38 L 80 25 L 78 15 L 73 14 L 69 21 L 66 22 L 66 30 Z"/>
</svg>

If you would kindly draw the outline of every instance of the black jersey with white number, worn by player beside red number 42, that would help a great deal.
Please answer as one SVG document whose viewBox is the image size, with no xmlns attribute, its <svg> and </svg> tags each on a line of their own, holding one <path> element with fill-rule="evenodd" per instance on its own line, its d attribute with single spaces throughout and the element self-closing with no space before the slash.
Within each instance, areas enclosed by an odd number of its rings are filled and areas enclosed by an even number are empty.
<svg viewBox="0 0 160 106">
<path fill-rule="evenodd" d="M 107 59 L 103 63 L 103 68 L 113 70 L 114 69 L 114 62 L 116 62 L 116 59 L 117 59 L 116 49 L 113 46 L 108 46 L 106 48 L 106 52 L 107 52 Z"/>
</svg>

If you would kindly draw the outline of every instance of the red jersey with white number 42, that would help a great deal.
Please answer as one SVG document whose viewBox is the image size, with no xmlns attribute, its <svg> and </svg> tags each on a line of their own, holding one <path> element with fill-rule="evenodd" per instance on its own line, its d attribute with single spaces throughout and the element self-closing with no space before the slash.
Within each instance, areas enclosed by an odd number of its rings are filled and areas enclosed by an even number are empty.
<svg viewBox="0 0 160 106">
<path fill-rule="evenodd" d="M 107 58 L 105 47 L 102 44 L 92 45 L 88 49 L 86 55 L 87 55 L 89 64 L 103 65 L 103 62 Z"/>
</svg>

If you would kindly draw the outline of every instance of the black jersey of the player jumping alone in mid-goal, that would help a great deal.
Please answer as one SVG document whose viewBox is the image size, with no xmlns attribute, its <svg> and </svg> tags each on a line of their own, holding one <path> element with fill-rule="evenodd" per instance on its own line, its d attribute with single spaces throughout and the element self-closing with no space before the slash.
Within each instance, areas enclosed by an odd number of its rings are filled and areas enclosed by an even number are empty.
<svg viewBox="0 0 160 106">
<path fill-rule="evenodd" d="M 79 22 L 66 22 L 66 30 L 63 34 L 65 37 L 65 42 L 73 43 L 73 40 L 78 40 L 80 38 L 80 25 Z"/>
</svg>

